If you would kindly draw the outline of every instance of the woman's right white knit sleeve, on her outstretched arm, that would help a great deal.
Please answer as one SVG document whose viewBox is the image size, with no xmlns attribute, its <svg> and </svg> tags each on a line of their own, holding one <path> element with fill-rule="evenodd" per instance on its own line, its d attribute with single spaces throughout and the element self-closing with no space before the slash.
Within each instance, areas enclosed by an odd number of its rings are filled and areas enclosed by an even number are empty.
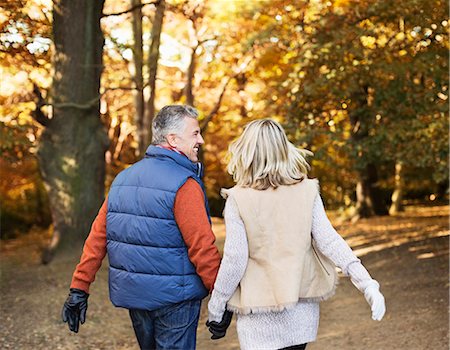
<svg viewBox="0 0 450 350">
<path fill-rule="evenodd" d="M 331 225 L 320 195 L 317 195 L 314 201 L 312 236 L 318 249 L 345 275 L 350 276 L 352 283 L 361 292 L 364 292 L 368 285 L 378 284 L 372 279 L 347 242 Z"/>
</svg>

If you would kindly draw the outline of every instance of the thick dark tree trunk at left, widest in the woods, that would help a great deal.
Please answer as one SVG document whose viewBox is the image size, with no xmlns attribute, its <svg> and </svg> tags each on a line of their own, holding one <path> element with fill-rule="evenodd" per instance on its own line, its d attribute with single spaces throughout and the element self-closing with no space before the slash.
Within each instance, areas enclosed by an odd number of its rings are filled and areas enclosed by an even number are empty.
<svg viewBox="0 0 450 350">
<path fill-rule="evenodd" d="M 81 243 L 104 198 L 107 137 L 99 118 L 104 0 L 55 0 L 53 118 L 39 148 L 54 235 L 42 260 L 55 249 Z"/>
</svg>

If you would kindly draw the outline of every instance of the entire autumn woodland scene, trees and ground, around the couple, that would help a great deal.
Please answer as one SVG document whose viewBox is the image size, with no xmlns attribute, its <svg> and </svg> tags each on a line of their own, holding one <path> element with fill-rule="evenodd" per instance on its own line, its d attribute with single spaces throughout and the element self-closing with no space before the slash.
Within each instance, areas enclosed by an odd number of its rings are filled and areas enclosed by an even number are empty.
<svg viewBox="0 0 450 350">
<path fill-rule="evenodd" d="M 372 321 L 340 274 L 308 349 L 448 349 L 449 46 L 438 0 L 0 0 L 2 349 L 138 348 L 107 263 L 78 334 L 60 312 L 111 181 L 171 103 L 201 113 L 220 250 L 243 126 L 274 118 L 314 152 L 330 219 L 387 313 Z M 209 339 L 206 305 L 198 349 L 238 349 L 234 321 Z"/>
</svg>

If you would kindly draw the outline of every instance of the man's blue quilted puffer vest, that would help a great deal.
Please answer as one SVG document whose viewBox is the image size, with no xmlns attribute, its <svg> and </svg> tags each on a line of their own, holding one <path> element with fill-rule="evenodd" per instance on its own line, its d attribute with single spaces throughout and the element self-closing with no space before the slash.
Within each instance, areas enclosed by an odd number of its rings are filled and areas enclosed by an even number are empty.
<svg viewBox="0 0 450 350">
<path fill-rule="evenodd" d="M 173 213 L 175 195 L 188 178 L 205 191 L 199 169 L 184 155 L 150 146 L 144 159 L 115 178 L 106 219 L 115 306 L 155 310 L 208 295 Z M 205 205 L 209 217 L 206 195 Z"/>
</svg>

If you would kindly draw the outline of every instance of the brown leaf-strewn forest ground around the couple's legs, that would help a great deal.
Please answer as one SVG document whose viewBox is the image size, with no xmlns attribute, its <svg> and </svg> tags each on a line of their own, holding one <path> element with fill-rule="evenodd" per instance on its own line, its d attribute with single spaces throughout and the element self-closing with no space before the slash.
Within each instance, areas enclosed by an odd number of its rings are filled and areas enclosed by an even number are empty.
<svg viewBox="0 0 450 350">
<path fill-rule="evenodd" d="M 372 321 L 363 295 L 340 276 L 336 295 L 322 303 L 318 338 L 309 350 L 448 349 L 449 206 L 411 206 L 396 217 L 357 223 L 332 219 L 381 284 L 387 313 Z M 218 245 L 224 227 L 214 219 Z M 0 246 L 0 344 L 2 349 L 137 350 L 128 313 L 108 299 L 107 263 L 91 286 L 87 321 L 78 334 L 60 318 L 80 249 L 40 264 L 44 231 L 33 230 Z M 239 349 L 235 324 L 211 341 L 203 303 L 198 349 Z"/>
</svg>

